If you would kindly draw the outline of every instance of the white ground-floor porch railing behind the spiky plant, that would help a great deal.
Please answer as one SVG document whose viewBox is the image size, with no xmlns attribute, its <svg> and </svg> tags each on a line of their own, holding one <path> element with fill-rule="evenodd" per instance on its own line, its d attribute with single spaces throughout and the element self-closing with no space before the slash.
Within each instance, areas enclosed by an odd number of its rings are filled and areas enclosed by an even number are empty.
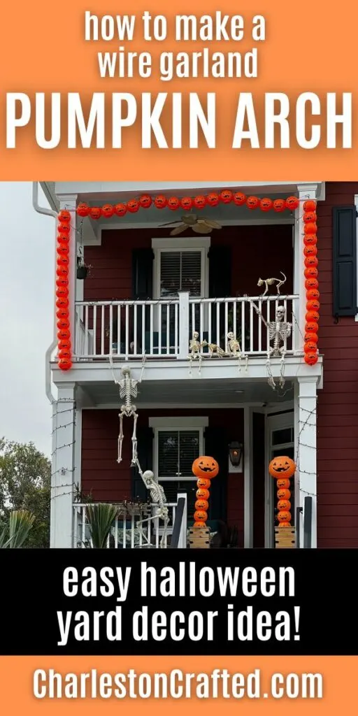
<svg viewBox="0 0 358 716">
<path fill-rule="evenodd" d="M 185 498 L 186 495 L 178 495 L 178 498 Z M 93 505 L 94 503 L 90 503 Z M 115 503 L 114 503 L 115 504 Z M 167 547 L 170 541 L 170 535 L 173 531 L 173 525 L 175 522 L 175 512 L 178 503 L 168 503 L 169 511 L 169 525 L 165 543 L 163 546 Z M 118 508 L 118 514 L 115 518 L 114 523 L 110 531 L 110 535 L 107 539 L 107 548 L 112 549 L 134 549 L 134 548 L 146 548 L 148 545 L 152 548 L 159 548 L 161 538 L 163 536 L 163 521 L 158 519 L 150 520 L 142 526 L 142 530 L 138 528 L 138 522 L 145 520 L 152 516 L 155 505 L 149 504 L 132 504 L 123 505 L 120 503 L 115 505 Z M 89 532 L 89 522 L 87 518 L 87 508 L 89 504 L 74 503 L 73 505 L 73 543 L 74 548 L 87 548 L 91 547 L 91 538 Z M 186 531 L 187 531 L 187 516 L 186 508 L 183 514 L 183 520 L 180 531 L 179 547 L 186 548 Z"/>
</svg>

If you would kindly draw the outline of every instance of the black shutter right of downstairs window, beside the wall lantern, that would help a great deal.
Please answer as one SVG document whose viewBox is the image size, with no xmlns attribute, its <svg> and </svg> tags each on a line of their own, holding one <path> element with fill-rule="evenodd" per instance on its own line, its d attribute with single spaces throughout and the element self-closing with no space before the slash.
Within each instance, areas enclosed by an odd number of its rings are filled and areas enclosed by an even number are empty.
<svg viewBox="0 0 358 716">
<path fill-rule="evenodd" d="M 204 433 L 205 455 L 217 460 L 219 473 L 211 482 L 209 520 L 226 522 L 228 490 L 228 433 L 225 427 L 207 427 Z"/>
</svg>

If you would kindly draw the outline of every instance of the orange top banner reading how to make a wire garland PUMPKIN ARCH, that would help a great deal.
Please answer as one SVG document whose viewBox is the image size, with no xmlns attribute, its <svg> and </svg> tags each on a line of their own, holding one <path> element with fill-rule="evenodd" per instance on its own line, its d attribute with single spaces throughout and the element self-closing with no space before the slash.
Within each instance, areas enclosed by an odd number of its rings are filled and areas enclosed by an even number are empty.
<svg viewBox="0 0 358 716">
<path fill-rule="evenodd" d="M 357 178 L 357 6 L 174 7 L 5 4 L 0 180 Z"/>
</svg>

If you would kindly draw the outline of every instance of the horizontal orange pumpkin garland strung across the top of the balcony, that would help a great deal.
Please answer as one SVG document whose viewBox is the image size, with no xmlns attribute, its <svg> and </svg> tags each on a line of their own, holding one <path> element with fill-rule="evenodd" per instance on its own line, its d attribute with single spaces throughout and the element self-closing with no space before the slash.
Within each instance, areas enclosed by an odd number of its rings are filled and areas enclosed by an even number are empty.
<svg viewBox="0 0 358 716">
<path fill-rule="evenodd" d="M 150 194 L 142 194 L 139 198 L 132 198 L 127 203 L 104 204 L 102 207 L 89 206 L 82 201 L 77 206 L 76 213 L 77 216 L 82 218 L 89 216 L 98 221 L 100 218 L 122 217 L 127 213 L 137 213 L 140 209 L 149 209 L 152 205 L 157 209 L 167 207 L 171 211 L 177 211 L 178 209 L 189 211 L 192 208 L 200 210 L 207 205 L 218 206 L 220 203 L 233 203 L 236 206 L 245 204 L 251 211 L 258 209 L 263 212 L 276 211 L 276 213 L 281 213 L 282 211 L 295 211 L 299 207 L 299 198 L 289 196 L 286 199 L 270 199 L 268 197 L 260 199 L 257 196 L 246 196 L 241 191 L 232 192 L 230 189 L 223 189 L 219 193 L 212 191 L 208 194 L 198 194 L 194 197 L 183 196 L 183 198 L 178 198 L 177 196 L 167 198 L 164 194 L 158 194 L 155 197 L 150 196 Z M 307 223 L 307 233 L 310 233 L 310 228 L 314 226 L 314 210 L 311 210 L 310 213 L 311 220 Z M 312 233 L 314 232 L 312 231 Z"/>
</svg>

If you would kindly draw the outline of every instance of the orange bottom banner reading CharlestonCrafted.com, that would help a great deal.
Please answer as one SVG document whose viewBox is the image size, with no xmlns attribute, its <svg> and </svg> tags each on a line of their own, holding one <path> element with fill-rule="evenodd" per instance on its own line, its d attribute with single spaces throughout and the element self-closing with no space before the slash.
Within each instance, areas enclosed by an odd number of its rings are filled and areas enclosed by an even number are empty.
<svg viewBox="0 0 358 716">
<path fill-rule="evenodd" d="M 4 713 L 337 716 L 358 657 L 0 657 Z"/>
</svg>

